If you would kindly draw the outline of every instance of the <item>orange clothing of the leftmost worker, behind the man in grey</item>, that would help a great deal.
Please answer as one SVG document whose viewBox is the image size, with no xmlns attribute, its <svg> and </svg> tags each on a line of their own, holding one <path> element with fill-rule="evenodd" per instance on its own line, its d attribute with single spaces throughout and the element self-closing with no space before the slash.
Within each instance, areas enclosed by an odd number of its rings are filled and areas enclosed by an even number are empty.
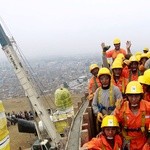
<svg viewBox="0 0 150 150">
<path fill-rule="evenodd" d="M 96 89 L 98 87 L 100 87 L 100 85 L 101 84 L 100 84 L 99 79 L 97 77 L 95 77 L 95 76 L 92 76 L 92 78 L 90 79 L 89 84 L 88 84 L 89 95 L 93 94 L 96 91 Z"/>
</svg>

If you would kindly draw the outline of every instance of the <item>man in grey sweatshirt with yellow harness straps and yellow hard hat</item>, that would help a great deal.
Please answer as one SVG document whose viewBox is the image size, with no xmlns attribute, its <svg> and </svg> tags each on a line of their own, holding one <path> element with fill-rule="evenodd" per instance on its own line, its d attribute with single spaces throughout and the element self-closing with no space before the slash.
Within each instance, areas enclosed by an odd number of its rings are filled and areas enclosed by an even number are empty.
<svg viewBox="0 0 150 150">
<path fill-rule="evenodd" d="M 108 68 L 101 68 L 98 72 L 101 86 L 96 90 L 92 101 L 92 109 L 97 116 L 97 132 L 99 123 L 104 115 L 111 114 L 115 109 L 115 102 L 122 98 L 119 88 L 111 83 L 111 73 Z"/>
</svg>

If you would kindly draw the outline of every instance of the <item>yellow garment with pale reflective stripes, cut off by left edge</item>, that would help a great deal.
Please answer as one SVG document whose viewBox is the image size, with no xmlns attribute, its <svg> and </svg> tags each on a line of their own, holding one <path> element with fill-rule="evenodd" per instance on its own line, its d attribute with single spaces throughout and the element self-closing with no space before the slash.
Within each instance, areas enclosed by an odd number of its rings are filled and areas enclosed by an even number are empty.
<svg viewBox="0 0 150 150">
<path fill-rule="evenodd" d="M 10 137 L 2 101 L 0 101 L 0 150 L 10 150 Z"/>
</svg>

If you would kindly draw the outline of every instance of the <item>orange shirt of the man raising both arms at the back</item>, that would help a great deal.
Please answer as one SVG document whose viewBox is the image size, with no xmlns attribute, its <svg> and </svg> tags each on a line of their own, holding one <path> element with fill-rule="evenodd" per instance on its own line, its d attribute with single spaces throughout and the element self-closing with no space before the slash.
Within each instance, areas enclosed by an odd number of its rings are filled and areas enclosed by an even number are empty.
<svg viewBox="0 0 150 150">
<path fill-rule="evenodd" d="M 107 58 L 112 58 L 112 59 L 115 59 L 117 57 L 118 54 L 124 54 L 124 56 L 126 55 L 126 50 L 120 48 L 120 50 L 109 50 L 109 51 L 106 51 L 106 57 Z"/>
</svg>

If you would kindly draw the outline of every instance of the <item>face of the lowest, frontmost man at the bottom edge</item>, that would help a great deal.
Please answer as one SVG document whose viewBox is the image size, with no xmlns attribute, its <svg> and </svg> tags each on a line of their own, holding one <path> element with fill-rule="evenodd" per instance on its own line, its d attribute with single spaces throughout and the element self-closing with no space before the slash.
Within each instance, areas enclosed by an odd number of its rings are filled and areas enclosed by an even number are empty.
<svg viewBox="0 0 150 150">
<path fill-rule="evenodd" d="M 116 127 L 105 127 L 103 131 L 104 131 L 107 139 L 113 139 L 117 132 L 117 129 L 116 129 Z"/>
</svg>

